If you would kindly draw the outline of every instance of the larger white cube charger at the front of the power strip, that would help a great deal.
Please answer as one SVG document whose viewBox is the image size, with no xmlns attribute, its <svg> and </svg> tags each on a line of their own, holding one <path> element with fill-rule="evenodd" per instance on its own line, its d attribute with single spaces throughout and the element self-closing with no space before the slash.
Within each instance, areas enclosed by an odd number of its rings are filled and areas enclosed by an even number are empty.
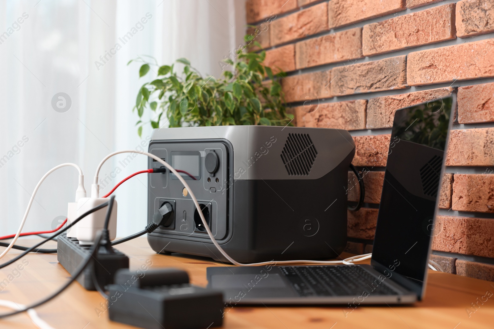
<svg viewBox="0 0 494 329">
<path fill-rule="evenodd" d="M 88 210 L 107 201 L 108 199 L 106 198 L 81 198 L 77 203 L 71 202 L 69 203 L 69 219 L 74 220 Z M 71 204 L 76 204 L 75 216 L 73 215 L 74 205 Z M 105 207 L 81 219 L 75 227 L 73 227 L 74 232 L 71 232 L 71 237 L 78 239 L 79 243 L 82 245 L 91 245 L 96 237 L 96 232 L 104 228 L 106 211 L 107 208 Z M 112 213 L 110 214 L 110 221 L 108 222 L 108 231 L 110 233 L 110 240 L 114 240 L 117 235 L 117 200 L 114 200 L 113 202 Z"/>
</svg>

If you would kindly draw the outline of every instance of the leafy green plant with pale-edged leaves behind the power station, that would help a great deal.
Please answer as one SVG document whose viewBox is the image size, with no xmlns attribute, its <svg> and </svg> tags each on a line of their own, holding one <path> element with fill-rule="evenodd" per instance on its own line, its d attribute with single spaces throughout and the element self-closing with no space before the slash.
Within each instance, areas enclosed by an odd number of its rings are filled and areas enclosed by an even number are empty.
<svg viewBox="0 0 494 329">
<path fill-rule="evenodd" d="M 176 61 L 184 65 L 180 73 L 174 64 L 159 66 L 156 60 L 152 64 L 140 57 L 129 61 L 128 64 L 144 63 L 139 77 L 146 75 L 151 66 L 158 68 L 157 72 L 151 70 L 158 76 L 142 85 L 132 109 L 139 115 L 136 123 L 139 136 L 143 125 L 148 123 L 142 121 L 146 108 L 154 112 L 154 118 L 149 121 L 153 128 L 161 127 L 166 121 L 169 127 L 292 125 L 293 114 L 287 113 L 280 84 L 285 73 L 273 74 L 271 68 L 264 65 L 264 50 L 238 51 L 237 55 L 236 62 L 224 60 L 232 71 L 224 71 L 220 78 L 203 77 L 185 58 Z"/>
</svg>

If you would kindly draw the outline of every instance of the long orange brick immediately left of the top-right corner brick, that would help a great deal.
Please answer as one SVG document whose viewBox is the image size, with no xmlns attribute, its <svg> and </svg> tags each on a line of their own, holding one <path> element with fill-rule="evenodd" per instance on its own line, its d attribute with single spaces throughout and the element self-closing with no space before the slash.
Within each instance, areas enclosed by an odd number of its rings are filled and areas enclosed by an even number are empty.
<svg viewBox="0 0 494 329">
<path fill-rule="evenodd" d="M 454 3 L 448 3 L 365 25 L 362 32 L 364 56 L 456 38 L 454 6 Z"/>
</svg>

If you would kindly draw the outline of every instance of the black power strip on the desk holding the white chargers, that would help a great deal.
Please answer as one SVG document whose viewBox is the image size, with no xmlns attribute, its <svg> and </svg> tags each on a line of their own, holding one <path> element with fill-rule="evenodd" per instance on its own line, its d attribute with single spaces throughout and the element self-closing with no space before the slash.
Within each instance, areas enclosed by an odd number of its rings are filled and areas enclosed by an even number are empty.
<svg viewBox="0 0 494 329">
<path fill-rule="evenodd" d="M 82 246 L 76 238 L 67 238 L 67 234 L 58 236 L 58 262 L 73 275 L 82 261 L 89 255 L 90 246 Z M 111 251 L 100 247 L 95 259 L 88 264 L 77 281 L 86 290 L 96 290 L 93 282 L 93 268 L 100 287 L 114 283 L 114 276 L 118 269 L 128 268 L 128 257 L 124 253 L 111 247 Z"/>
</svg>

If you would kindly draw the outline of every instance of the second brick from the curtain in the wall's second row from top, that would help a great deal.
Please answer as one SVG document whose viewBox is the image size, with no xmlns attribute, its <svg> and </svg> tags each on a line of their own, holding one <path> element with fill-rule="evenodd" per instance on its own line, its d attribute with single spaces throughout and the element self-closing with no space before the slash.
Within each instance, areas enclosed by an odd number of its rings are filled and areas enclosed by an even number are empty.
<svg viewBox="0 0 494 329">
<path fill-rule="evenodd" d="M 271 23 L 271 44 L 277 45 L 328 30 L 328 3 L 303 9 Z"/>
</svg>

